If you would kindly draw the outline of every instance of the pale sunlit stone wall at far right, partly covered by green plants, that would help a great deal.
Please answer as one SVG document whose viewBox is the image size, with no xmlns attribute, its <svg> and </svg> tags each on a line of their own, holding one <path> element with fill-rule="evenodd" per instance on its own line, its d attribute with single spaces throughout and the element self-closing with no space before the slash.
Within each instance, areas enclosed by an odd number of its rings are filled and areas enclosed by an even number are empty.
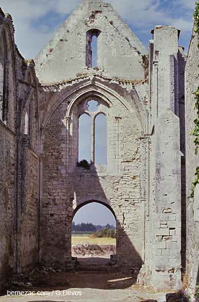
<svg viewBox="0 0 199 302">
<path fill-rule="evenodd" d="M 195 98 L 193 92 L 199 86 L 199 36 L 192 36 L 185 73 L 185 119 L 186 119 L 186 203 L 187 203 L 187 242 L 186 242 L 186 270 L 190 288 L 199 283 L 199 192 L 195 189 L 195 197 L 190 198 L 192 182 L 195 180 L 195 171 L 199 166 L 199 156 L 195 155 L 193 132 L 196 118 L 194 110 Z"/>
</svg>

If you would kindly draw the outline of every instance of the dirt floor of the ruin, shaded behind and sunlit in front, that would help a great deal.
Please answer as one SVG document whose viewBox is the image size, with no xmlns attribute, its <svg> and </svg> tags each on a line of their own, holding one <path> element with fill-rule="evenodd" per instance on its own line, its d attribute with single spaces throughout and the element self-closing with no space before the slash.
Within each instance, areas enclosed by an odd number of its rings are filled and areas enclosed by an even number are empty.
<svg viewBox="0 0 199 302">
<path fill-rule="evenodd" d="M 24 284 L 11 285 L 0 302 L 165 302 L 165 293 L 155 294 L 135 283 L 136 275 L 131 274 L 42 269 Z"/>
</svg>

